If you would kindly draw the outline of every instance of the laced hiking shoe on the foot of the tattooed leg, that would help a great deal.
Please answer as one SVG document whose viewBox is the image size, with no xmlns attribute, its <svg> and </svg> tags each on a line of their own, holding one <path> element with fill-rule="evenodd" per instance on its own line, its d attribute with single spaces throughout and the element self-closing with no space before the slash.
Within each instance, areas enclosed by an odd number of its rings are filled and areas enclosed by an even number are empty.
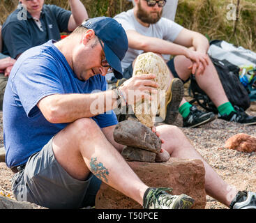
<svg viewBox="0 0 256 223">
<path fill-rule="evenodd" d="M 186 194 L 171 195 L 171 188 L 149 188 L 143 198 L 145 209 L 190 209 L 195 200 Z"/>
</svg>

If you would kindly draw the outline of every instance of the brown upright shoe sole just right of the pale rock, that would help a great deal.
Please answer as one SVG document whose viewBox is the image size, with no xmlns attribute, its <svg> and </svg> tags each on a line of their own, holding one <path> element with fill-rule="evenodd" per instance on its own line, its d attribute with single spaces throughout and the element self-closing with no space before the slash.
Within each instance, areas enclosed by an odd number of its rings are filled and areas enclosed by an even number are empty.
<svg viewBox="0 0 256 223">
<path fill-rule="evenodd" d="M 170 93 L 167 93 L 168 100 L 165 105 L 166 116 L 164 121 L 168 125 L 171 125 L 176 120 L 176 117 L 179 114 L 179 105 L 181 104 L 181 100 L 184 96 L 184 86 L 181 79 L 172 79 L 170 86 Z"/>
</svg>

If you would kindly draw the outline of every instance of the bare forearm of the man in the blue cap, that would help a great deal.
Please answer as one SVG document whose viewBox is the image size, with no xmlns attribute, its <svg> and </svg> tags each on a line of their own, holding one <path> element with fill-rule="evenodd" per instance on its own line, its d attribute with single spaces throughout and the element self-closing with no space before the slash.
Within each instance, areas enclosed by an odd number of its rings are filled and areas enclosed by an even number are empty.
<svg viewBox="0 0 256 223">
<path fill-rule="evenodd" d="M 56 94 L 38 102 L 38 107 L 51 123 L 70 123 L 90 118 L 116 107 L 116 93 L 104 91 L 91 94 Z"/>
</svg>

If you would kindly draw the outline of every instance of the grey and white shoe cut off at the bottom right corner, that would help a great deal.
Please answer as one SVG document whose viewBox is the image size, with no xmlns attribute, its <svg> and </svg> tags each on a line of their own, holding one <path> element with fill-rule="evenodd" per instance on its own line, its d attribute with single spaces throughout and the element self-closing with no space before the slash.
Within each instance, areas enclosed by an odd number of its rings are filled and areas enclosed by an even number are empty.
<svg viewBox="0 0 256 223">
<path fill-rule="evenodd" d="M 256 193 L 239 191 L 231 202 L 231 209 L 256 209 Z"/>
</svg>

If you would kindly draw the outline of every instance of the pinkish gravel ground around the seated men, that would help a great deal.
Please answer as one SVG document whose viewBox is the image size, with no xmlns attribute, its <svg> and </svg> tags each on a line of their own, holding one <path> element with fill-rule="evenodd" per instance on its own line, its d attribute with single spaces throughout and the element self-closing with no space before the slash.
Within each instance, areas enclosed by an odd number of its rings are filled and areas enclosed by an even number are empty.
<svg viewBox="0 0 256 223">
<path fill-rule="evenodd" d="M 256 102 L 247 110 L 248 114 L 256 116 Z M 2 116 L 2 113 L 0 113 Z M 2 118 L 0 117 L 2 121 Z M 178 116 L 175 125 L 181 127 L 182 119 Z M 2 122 L 0 123 L 0 146 L 3 146 Z M 256 137 L 256 125 L 246 126 L 238 123 L 227 123 L 218 120 L 202 125 L 199 128 L 182 128 L 196 150 L 211 164 L 213 169 L 230 185 L 239 190 L 256 192 L 256 152 L 244 153 L 225 148 L 225 141 L 238 133 L 246 133 Z M 13 176 L 4 162 L 0 162 L 0 193 L 9 194 L 10 179 Z M 207 196 L 207 209 L 227 208 L 222 203 Z"/>
</svg>

